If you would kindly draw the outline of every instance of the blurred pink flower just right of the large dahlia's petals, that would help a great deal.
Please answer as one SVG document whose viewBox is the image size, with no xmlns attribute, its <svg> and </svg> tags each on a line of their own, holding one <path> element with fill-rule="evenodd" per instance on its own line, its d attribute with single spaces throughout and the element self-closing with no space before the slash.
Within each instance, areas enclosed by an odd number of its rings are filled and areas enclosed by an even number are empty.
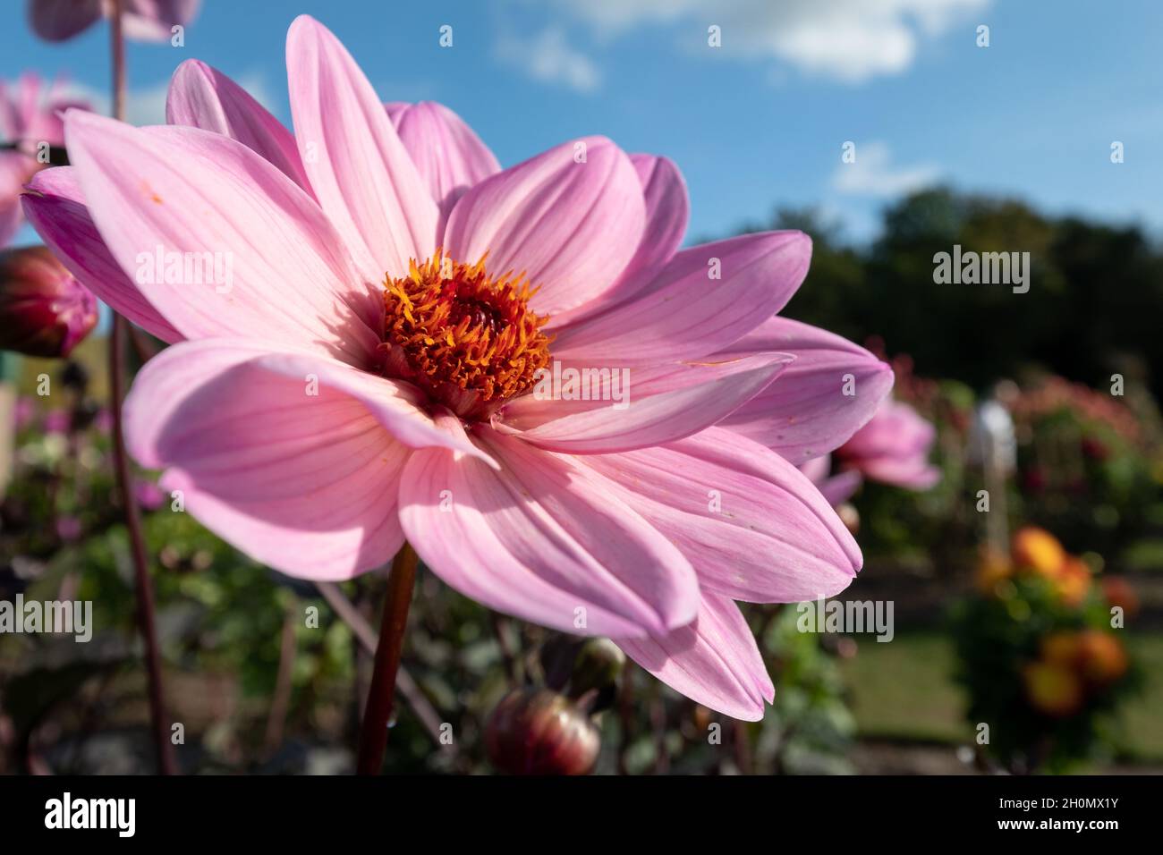
<svg viewBox="0 0 1163 855">
<path fill-rule="evenodd" d="M 936 429 L 907 404 L 886 400 L 868 425 L 837 451 L 842 469 L 909 490 L 928 490 L 941 479 L 929 465 Z"/>
</svg>

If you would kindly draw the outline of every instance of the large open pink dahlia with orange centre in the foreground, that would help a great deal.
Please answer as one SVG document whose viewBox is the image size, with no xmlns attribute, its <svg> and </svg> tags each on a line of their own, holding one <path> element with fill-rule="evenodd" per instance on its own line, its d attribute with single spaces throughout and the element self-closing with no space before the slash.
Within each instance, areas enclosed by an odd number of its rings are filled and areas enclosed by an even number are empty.
<svg viewBox="0 0 1163 855">
<path fill-rule="evenodd" d="M 861 567 L 783 455 L 840 446 L 892 382 L 773 318 L 808 238 L 679 250 L 671 162 L 586 137 L 502 170 L 447 108 L 385 108 L 309 17 L 287 72 L 293 135 L 191 62 L 167 127 L 70 113 L 74 165 L 26 197 L 79 278 L 177 342 L 126 402 L 134 456 L 284 572 L 348 578 L 407 540 L 486 606 L 608 635 L 761 718 L 772 684 L 735 600 L 832 594 Z M 224 254 L 230 285 L 148 284 L 159 251 Z M 542 387 L 582 369 L 619 398 Z"/>
</svg>

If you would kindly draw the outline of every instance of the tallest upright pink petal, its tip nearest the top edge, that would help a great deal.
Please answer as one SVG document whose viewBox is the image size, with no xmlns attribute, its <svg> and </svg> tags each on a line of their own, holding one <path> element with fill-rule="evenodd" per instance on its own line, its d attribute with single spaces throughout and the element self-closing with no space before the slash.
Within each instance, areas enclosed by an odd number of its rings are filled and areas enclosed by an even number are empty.
<svg viewBox="0 0 1163 855">
<path fill-rule="evenodd" d="M 404 276 L 436 248 L 437 207 L 363 71 L 330 30 L 287 33 L 295 140 L 323 211 L 370 282 Z"/>
</svg>

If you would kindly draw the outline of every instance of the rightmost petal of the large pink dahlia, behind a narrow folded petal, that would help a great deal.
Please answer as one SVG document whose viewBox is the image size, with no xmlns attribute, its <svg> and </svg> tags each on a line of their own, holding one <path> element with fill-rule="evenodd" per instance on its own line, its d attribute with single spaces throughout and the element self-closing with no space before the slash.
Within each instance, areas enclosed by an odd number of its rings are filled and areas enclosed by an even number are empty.
<svg viewBox="0 0 1163 855">
<path fill-rule="evenodd" d="M 892 368 L 868 350 L 786 318 L 769 318 L 720 355 L 770 350 L 793 354 L 795 362 L 722 425 L 773 448 L 792 463 L 840 448 L 892 390 Z"/>
</svg>

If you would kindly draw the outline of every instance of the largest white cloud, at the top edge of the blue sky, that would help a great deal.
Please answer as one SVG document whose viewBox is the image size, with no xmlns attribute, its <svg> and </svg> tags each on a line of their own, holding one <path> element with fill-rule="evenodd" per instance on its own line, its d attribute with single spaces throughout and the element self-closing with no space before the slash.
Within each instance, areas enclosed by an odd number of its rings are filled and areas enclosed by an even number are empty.
<svg viewBox="0 0 1163 855">
<path fill-rule="evenodd" d="M 645 24 L 722 28 L 723 55 L 772 58 L 842 83 L 912 65 L 921 36 L 947 31 L 991 0 L 556 0 L 606 35 Z M 972 36 L 966 31 L 966 38 Z M 686 40 L 688 41 L 688 40 Z"/>
</svg>

